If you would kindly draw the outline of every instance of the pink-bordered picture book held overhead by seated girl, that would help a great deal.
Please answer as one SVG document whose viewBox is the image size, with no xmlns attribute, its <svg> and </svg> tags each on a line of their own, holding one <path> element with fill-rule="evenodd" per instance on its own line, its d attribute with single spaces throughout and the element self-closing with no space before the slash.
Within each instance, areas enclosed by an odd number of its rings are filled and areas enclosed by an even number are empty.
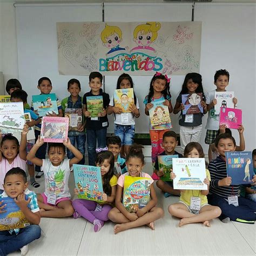
<svg viewBox="0 0 256 256">
<path fill-rule="evenodd" d="M 60 142 L 68 139 L 68 117 L 43 117 L 41 138 L 44 142 Z"/>
</svg>

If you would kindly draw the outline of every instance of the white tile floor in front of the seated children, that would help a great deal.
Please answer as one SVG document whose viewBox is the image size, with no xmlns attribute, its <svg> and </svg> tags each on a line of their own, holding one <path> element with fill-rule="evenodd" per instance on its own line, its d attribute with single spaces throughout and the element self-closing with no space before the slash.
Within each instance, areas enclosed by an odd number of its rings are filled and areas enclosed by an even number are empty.
<svg viewBox="0 0 256 256">
<path fill-rule="evenodd" d="M 151 166 L 146 164 L 146 172 Z M 37 179 L 43 192 L 44 177 Z M 75 184 L 70 175 L 70 191 Z M 30 187 L 30 189 L 32 189 Z M 98 233 L 85 219 L 41 219 L 42 236 L 29 245 L 28 255 L 255 255 L 255 225 L 211 221 L 211 227 L 190 224 L 178 227 L 179 220 L 171 217 L 168 205 L 178 197 L 164 198 L 158 188 L 158 206 L 165 216 L 155 223 L 156 230 L 143 226 L 114 235 L 114 224 L 108 221 Z M 18 252 L 11 255 L 20 255 Z"/>
</svg>

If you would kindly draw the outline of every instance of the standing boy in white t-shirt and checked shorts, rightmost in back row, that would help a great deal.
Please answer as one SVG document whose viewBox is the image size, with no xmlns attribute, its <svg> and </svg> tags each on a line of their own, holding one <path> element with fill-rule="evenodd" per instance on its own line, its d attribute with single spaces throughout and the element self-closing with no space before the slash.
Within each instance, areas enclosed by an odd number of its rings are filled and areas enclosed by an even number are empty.
<svg viewBox="0 0 256 256">
<path fill-rule="evenodd" d="M 205 95 L 206 105 L 208 111 L 207 123 L 205 129 L 207 129 L 205 143 L 209 144 L 208 150 L 208 159 L 212 160 L 211 157 L 211 144 L 214 143 L 215 138 L 217 137 L 217 132 L 219 129 L 219 114 L 215 114 L 214 106 L 217 104 L 217 99 L 214 98 L 215 92 L 225 92 L 228 82 L 230 80 L 230 73 L 225 69 L 220 69 L 215 72 L 214 75 L 214 84 L 217 89 L 207 92 Z M 234 107 L 237 104 L 237 99 L 233 98 Z"/>
</svg>

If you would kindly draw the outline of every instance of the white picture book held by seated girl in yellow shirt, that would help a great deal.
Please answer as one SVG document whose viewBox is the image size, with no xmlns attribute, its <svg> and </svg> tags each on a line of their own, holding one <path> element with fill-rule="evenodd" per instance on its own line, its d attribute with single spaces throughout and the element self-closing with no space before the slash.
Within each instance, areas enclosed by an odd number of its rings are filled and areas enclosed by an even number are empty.
<svg viewBox="0 0 256 256">
<path fill-rule="evenodd" d="M 173 158 L 174 190 L 207 190 L 204 158 Z"/>
</svg>

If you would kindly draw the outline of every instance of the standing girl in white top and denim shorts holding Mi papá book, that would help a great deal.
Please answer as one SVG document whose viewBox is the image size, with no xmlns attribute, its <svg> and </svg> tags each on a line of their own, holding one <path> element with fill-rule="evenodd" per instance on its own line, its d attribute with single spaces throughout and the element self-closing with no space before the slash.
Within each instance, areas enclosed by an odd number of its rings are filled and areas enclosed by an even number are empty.
<svg viewBox="0 0 256 256">
<path fill-rule="evenodd" d="M 132 78 L 123 73 L 118 77 L 117 89 L 130 89 L 133 88 Z M 127 97 L 127 96 L 125 96 Z M 127 113 L 122 113 L 122 109 L 114 106 L 113 96 L 110 99 L 109 107 L 107 107 L 107 114 L 114 113 L 114 134 L 121 139 L 123 156 L 129 153 L 130 146 L 133 144 L 135 133 L 135 120 L 134 117 L 139 117 L 139 101 L 133 89 L 134 104 L 129 106 Z"/>
</svg>

